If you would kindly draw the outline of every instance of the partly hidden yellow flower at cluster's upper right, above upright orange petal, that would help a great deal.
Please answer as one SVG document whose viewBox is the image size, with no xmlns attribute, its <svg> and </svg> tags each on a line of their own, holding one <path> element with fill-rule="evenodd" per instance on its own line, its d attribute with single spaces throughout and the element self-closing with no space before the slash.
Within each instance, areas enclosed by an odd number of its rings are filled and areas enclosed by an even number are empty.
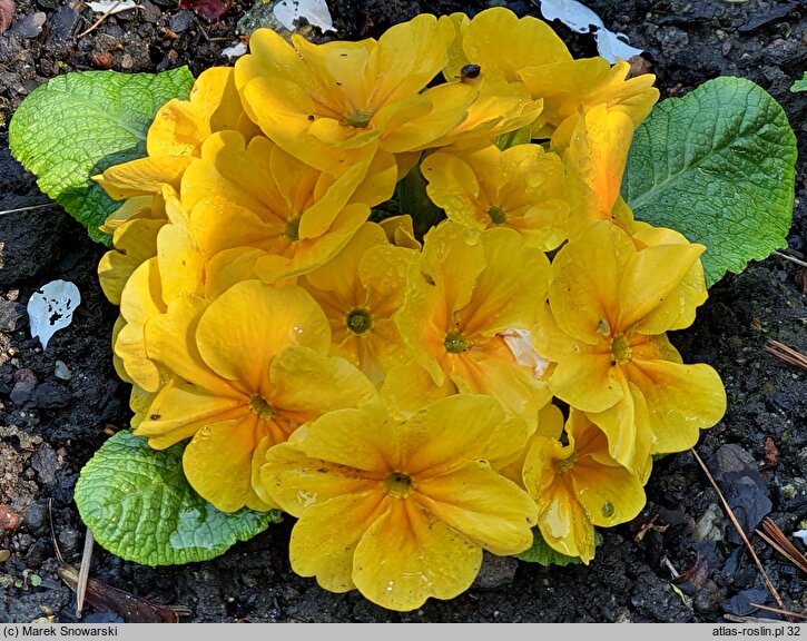
<svg viewBox="0 0 807 641">
<path fill-rule="evenodd" d="M 543 99 L 542 129 L 535 138 L 552 138 L 552 149 L 560 151 L 569 145 L 580 112 L 597 105 L 616 109 L 638 127 L 659 99 L 653 87 L 656 76 L 642 73 L 628 78 L 630 63 L 619 60 L 611 66 L 604 58 L 583 58 L 519 70 L 519 77 L 532 97 Z"/>
</svg>

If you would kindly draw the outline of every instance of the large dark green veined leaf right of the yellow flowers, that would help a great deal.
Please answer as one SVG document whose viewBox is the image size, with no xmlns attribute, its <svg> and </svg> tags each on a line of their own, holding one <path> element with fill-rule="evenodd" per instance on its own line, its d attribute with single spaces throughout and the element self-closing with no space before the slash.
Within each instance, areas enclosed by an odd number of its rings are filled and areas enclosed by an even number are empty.
<svg viewBox="0 0 807 641">
<path fill-rule="evenodd" d="M 709 80 L 637 129 L 622 180 L 634 216 L 707 249 L 708 286 L 787 246 L 796 137 L 779 103 L 742 78 Z"/>
</svg>

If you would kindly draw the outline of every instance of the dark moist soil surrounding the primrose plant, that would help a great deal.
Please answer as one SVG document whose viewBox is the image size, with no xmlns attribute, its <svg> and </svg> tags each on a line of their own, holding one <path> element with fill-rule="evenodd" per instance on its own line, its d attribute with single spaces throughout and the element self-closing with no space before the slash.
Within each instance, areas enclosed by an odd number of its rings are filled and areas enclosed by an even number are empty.
<svg viewBox="0 0 807 641">
<path fill-rule="evenodd" d="M 154 72 L 188 65 L 198 75 L 233 62 L 222 51 L 244 37 L 237 23 L 248 4 L 235 3 L 222 20 L 208 23 L 178 9 L 176 0 L 154 2 L 142 0 L 144 9 L 110 17 L 78 37 L 95 21 L 89 9 L 18 0 L 14 24 L 0 36 L 0 210 L 49 201 L 8 150 L 8 120 L 40 83 L 73 70 Z M 488 4 L 337 0 L 329 6 L 338 32 L 328 37 L 358 39 L 378 37 L 419 12 L 473 13 Z M 540 17 L 530 2 L 509 6 Z M 717 76 L 741 76 L 781 103 L 800 151 L 788 254 L 804 260 L 807 93 L 791 93 L 789 87 L 807 69 L 807 3 L 600 0 L 588 6 L 644 49 L 662 99 Z M 596 55 L 588 36 L 557 28 L 575 56 Z M 66 562 L 78 564 L 86 529 L 72 487 L 81 466 L 129 418 L 128 387 L 115 374 L 110 351 L 117 309 L 96 275 L 105 250 L 58 206 L 0 215 L 0 622 L 76 620 L 73 593 L 57 575 L 49 514 Z M 30 337 L 24 305 L 57 278 L 76 283 L 82 303 L 72 324 L 42 352 Z M 747 529 L 784 609 L 801 613 L 807 575 L 754 530 L 766 515 L 788 535 L 807 529 L 807 374 L 765 349 L 776 339 L 807 354 L 806 287 L 805 268 L 774 255 L 712 286 L 695 326 L 672 336 L 686 361 L 709 363 L 722 376 L 728 412 L 702 433 L 697 452 Z M 777 602 L 691 452 L 659 461 L 647 495 L 634 522 L 602 532 L 589 566 L 490 558 L 466 593 L 431 600 L 406 614 L 377 608 L 356 592 L 325 592 L 313 579 L 295 575 L 287 558 L 292 519 L 213 561 L 185 566 L 146 568 L 96 546 L 92 576 L 155 602 L 184 605 L 189 614 L 180 620 L 189 622 L 780 618 L 750 605 Z M 120 617 L 88 607 L 82 620 Z"/>
</svg>

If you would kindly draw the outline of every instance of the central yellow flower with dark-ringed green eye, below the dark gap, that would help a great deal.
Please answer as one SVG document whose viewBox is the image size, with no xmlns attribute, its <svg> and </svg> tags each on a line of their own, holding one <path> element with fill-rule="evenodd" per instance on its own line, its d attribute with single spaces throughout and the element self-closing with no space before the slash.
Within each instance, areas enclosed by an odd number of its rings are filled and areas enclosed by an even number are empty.
<svg viewBox="0 0 807 641">
<path fill-rule="evenodd" d="M 305 288 L 331 323 L 331 353 L 378 384 L 390 367 L 406 359 L 393 315 L 403 302 L 413 249 L 390 245 L 375 223 L 358 228 L 345 248 L 303 276 Z"/>
</svg>

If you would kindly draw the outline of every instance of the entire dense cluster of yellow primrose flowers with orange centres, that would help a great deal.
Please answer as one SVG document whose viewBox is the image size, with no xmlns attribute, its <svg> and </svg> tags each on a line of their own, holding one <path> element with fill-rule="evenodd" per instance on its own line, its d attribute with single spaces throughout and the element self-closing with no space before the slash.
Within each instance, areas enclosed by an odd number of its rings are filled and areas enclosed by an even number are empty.
<svg viewBox="0 0 807 641">
<path fill-rule="evenodd" d="M 124 200 L 99 275 L 135 433 L 187 442 L 217 509 L 295 516 L 293 569 L 387 609 L 533 530 L 588 563 L 726 408 L 667 338 L 705 248 L 619 195 L 655 78 L 503 8 L 249 46 L 96 177 Z"/>
</svg>

